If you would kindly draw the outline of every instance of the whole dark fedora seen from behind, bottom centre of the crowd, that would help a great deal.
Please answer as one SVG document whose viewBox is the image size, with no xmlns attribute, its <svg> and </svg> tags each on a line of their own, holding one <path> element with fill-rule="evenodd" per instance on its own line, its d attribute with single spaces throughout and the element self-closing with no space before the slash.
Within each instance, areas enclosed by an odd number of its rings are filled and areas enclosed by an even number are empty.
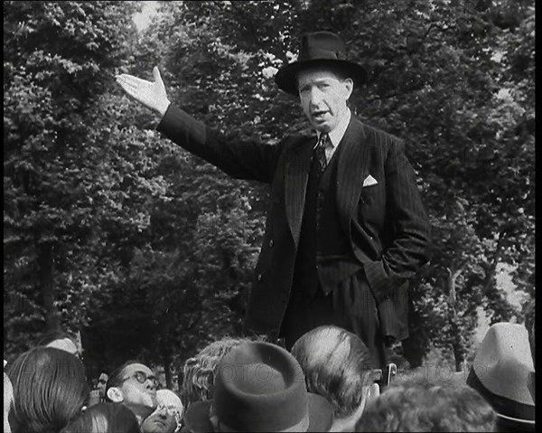
<svg viewBox="0 0 542 433">
<path fill-rule="evenodd" d="M 301 366 L 275 344 L 248 342 L 225 355 L 217 369 L 213 399 L 192 403 L 187 430 L 327 431 L 331 403 L 306 391 Z"/>
</svg>

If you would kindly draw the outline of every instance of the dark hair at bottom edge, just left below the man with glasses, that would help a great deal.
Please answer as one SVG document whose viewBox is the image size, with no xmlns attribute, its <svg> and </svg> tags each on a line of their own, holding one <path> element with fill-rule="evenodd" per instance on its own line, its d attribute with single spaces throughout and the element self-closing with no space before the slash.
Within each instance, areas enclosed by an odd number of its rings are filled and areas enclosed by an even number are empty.
<svg viewBox="0 0 542 433">
<path fill-rule="evenodd" d="M 140 433 L 134 412 L 122 403 L 97 403 L 79 413 L 60 433 Z"/>
</svg>

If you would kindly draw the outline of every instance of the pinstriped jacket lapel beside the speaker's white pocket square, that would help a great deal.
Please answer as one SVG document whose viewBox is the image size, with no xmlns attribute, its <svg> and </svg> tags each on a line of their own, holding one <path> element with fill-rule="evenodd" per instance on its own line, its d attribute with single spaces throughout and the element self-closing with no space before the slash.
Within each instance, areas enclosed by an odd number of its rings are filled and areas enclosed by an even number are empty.
<svg viewBox="0 0 542 433">
<path fill-rule="evenodd" d="M 369 172 L 369 150 L 363 124 L 357 118 L 350 119 L 350 125 L 341 139 L 337 167 L 337 209 L 342 229 L 351 238 L 350 221 L 360 200 L 363 179 Z"/>
</svg>

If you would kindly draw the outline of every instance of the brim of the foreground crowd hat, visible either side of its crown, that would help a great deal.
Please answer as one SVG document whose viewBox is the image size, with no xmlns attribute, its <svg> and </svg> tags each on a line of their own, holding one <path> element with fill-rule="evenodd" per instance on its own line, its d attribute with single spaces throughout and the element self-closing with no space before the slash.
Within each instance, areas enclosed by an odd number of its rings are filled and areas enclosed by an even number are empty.
<svg viewBox="0 0 542 433">
<path fill-rule="evenodd" d="M 309 427 L 306 431 L 328 431 L 333 423 L 333 409 L 322 396 L 307 393 L 309 402 Z M 184 413 L 184 424 L 192 433 L 214 431 L 210 422 L 212 400 L 192 403 Z"/>
</svg>

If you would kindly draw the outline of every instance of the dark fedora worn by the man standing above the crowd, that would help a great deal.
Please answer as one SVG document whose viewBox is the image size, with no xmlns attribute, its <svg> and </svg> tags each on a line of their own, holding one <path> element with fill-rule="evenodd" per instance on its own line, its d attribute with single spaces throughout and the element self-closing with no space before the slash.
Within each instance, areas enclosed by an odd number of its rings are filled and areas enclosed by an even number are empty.
<svg viewBox="0 0 542 433">
<path fill-rule="evenodd" d="M 313 32 L 302 37 L 297 60 L 276 72 L 276 85 L 286 93 L 297 95 L 297 74 L 315 67 L 342 71 L 354 81 L 354 89 L 367 81 L 367 71 L 358 63 L 346 60 L 346 48 L 341 37 L 332 32 Z"/>
</svg>

